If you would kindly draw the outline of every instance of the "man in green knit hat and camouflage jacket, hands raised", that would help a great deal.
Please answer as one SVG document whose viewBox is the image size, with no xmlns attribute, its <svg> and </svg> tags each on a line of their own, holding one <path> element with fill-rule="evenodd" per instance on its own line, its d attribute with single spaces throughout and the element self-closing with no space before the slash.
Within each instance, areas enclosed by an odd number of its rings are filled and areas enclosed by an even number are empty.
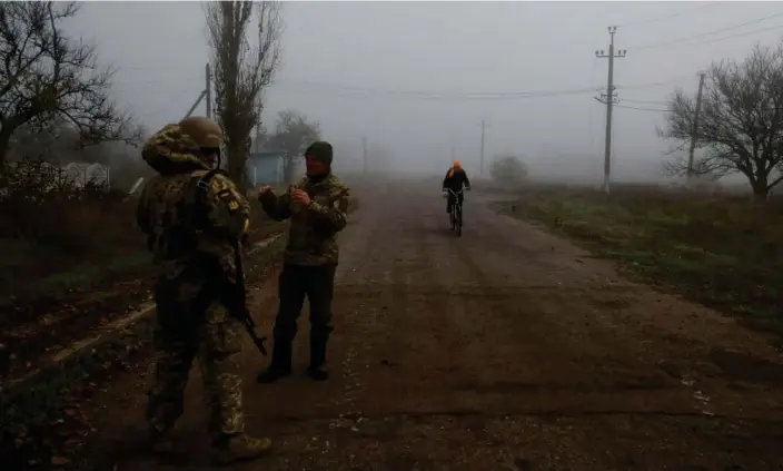
<svg viewBox="0 0 783 471">
<path fill-rule="evenodd" d="M 291 344 L 307 295 L 310 303 L 310 364 L 308 375 L 326 381 L 326 344 L 331 326 L 331 294 L 338 249 L 337 233 L 346 226 L 348 187 L 331 173 L 331 145 L 314 143 L 305 151 L 307 176 L 278 197 L 261 187 L 258 200 L 276 220 L 290 217 L 288 245 L 279 277 L 279 308 L 275 318 L 271 364 L 258 382 L 271 383 L 291 372 Z"/>
</svg>

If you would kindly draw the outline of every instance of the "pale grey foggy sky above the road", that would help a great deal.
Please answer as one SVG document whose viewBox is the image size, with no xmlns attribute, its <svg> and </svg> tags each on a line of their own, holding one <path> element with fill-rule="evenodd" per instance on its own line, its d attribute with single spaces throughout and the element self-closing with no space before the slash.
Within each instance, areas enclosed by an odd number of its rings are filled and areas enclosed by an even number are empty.
<svg viewBox="0 0 783 471">
<path fill-rule="evenodd" d="M 752 21 L 781 12 L 775 2 L 285 2 L 264 121 L 274 128 L 284 109 L 320 121 L 337 169 L 360 168 L 366 137 L 370 169 L 442 175 L 453 153 L 478 173 L 484 120 L 487 161 L 513 153 L 533 176 L 598 181 L 605 107 L 594 97 L 607 59 L 595 50 L 617 24 L 627 56 L 615 60 L 613 179 L 655 180 L 664 101 L 675 87 L 695 94 L 711 61 L 777 41 L 783 17 Z M 90 2 L 71 27 L 117 67 L 118 100 L 155 129 L 204 88 L 204 23 L 198 2 Z"/>
</svg>

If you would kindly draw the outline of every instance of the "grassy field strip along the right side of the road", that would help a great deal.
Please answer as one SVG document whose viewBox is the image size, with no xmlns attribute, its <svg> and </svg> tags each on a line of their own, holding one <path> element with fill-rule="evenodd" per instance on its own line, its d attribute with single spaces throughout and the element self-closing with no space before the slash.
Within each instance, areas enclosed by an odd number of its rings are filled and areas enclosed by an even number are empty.
<svg viewBox="0 0 783 471">
<path fill-rule="evenodd" d="M 616 186 L 612 197 L 533 187 L 519 217 L 576 238 L 632 274 L 783 334 L 783 200 Z"/>
</svg>

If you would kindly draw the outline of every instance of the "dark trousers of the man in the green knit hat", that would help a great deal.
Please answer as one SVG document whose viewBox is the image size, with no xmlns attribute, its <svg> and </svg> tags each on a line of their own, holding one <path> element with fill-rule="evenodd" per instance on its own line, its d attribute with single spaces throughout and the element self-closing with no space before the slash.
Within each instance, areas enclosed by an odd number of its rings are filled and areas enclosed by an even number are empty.
<svg viewBox="0 0 783 471">
<path fill-rule="evenodd" d="M 275 318 L 275 343 L 290 344 L 305 304 L 310 302 L 310 341 L 326 342 L 331 325 L 331 296 L 335 288 L 335 265 L 284 265 L 279 277 L 280 306 Z"/>
</svg>

